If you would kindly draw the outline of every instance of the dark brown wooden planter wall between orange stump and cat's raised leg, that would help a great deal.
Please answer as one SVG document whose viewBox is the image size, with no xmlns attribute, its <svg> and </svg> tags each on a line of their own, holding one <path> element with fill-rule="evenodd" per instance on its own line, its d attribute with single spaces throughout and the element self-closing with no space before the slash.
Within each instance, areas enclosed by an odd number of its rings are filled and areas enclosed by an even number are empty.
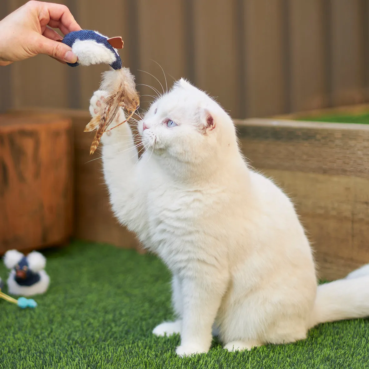
<svg viewBox="0 0 369 369">
<path fill-rule="evenodd" d="M 134 234 L 122 227 L 110 208 L 104 183 L 100 148 L 90 156 L 94 132 L 83 132 L 90 121 L 87 110 L 26 108 L 12 114 L 58 114 L 72 120 L 74 139 L 74 234 L 77 239 L 111 244 L 122 248 L 135 248 L 143 252 Z"/>
</svg>

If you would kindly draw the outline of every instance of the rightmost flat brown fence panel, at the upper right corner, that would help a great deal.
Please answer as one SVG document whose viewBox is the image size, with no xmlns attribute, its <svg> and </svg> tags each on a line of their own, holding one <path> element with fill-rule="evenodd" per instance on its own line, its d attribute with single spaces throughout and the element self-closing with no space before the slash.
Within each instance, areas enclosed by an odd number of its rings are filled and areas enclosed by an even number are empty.
<svg viewBox="0 0 369 369">
<path fill-rule="evenodd" d="M 359 103 L 364 97 L 360 3 L 360 0 L 331 2 L 332 101 L 336 106 Z"/>
</svg>

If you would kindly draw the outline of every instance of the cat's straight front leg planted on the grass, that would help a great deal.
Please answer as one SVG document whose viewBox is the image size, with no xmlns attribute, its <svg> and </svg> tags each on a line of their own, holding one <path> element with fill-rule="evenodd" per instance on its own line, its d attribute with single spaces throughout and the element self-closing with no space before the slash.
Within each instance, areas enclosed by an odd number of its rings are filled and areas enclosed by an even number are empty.
<svg viewBox="0 0 369 369">
<path fill-rule="evenodd" d="M 179 356 L 200 354 L 210 349 L 212 326 L 227 280 L 228 276 L 223 270 L 213 269 L 204 273 L 203 265 L 199 265 L 194 275 L 182 278 L 181 344 L 176 348 Z"/>
</svg>

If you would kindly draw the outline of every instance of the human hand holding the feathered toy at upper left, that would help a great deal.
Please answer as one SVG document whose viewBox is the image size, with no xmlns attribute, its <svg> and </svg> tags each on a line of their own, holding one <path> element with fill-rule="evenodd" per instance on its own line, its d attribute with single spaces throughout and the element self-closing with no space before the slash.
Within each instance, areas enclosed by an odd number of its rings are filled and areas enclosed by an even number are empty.
<svg viewBox="0 0 369 369">
<path fill-rule="evenodd" d="M 48 27 L 49 26 L 49 27 Z M 79 31 L 73 15 L 65 5 L 28 1 L 0 21 L 0 65 L 8 65 L 37 54 L 46 54 L 63 63 L 75 63 L 72 48 L 58 42 L 62 37 Z"/>
</svg>

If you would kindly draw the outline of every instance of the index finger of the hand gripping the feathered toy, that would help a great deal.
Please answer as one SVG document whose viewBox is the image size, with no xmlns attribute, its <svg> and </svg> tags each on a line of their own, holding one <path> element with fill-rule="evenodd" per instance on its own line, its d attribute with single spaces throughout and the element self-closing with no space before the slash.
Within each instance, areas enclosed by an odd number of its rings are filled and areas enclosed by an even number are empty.
<svg viewBox="0 0 369 369">
<path fill-rule="evenodd" d="M 68 7 L 62 4 L 43 3 L 49 13 L 48 24 L 52 28 L 59 28 L 66 35 L 72 31 L 80 31 L 82 28 L 70 13 Z"/>
</svg>

